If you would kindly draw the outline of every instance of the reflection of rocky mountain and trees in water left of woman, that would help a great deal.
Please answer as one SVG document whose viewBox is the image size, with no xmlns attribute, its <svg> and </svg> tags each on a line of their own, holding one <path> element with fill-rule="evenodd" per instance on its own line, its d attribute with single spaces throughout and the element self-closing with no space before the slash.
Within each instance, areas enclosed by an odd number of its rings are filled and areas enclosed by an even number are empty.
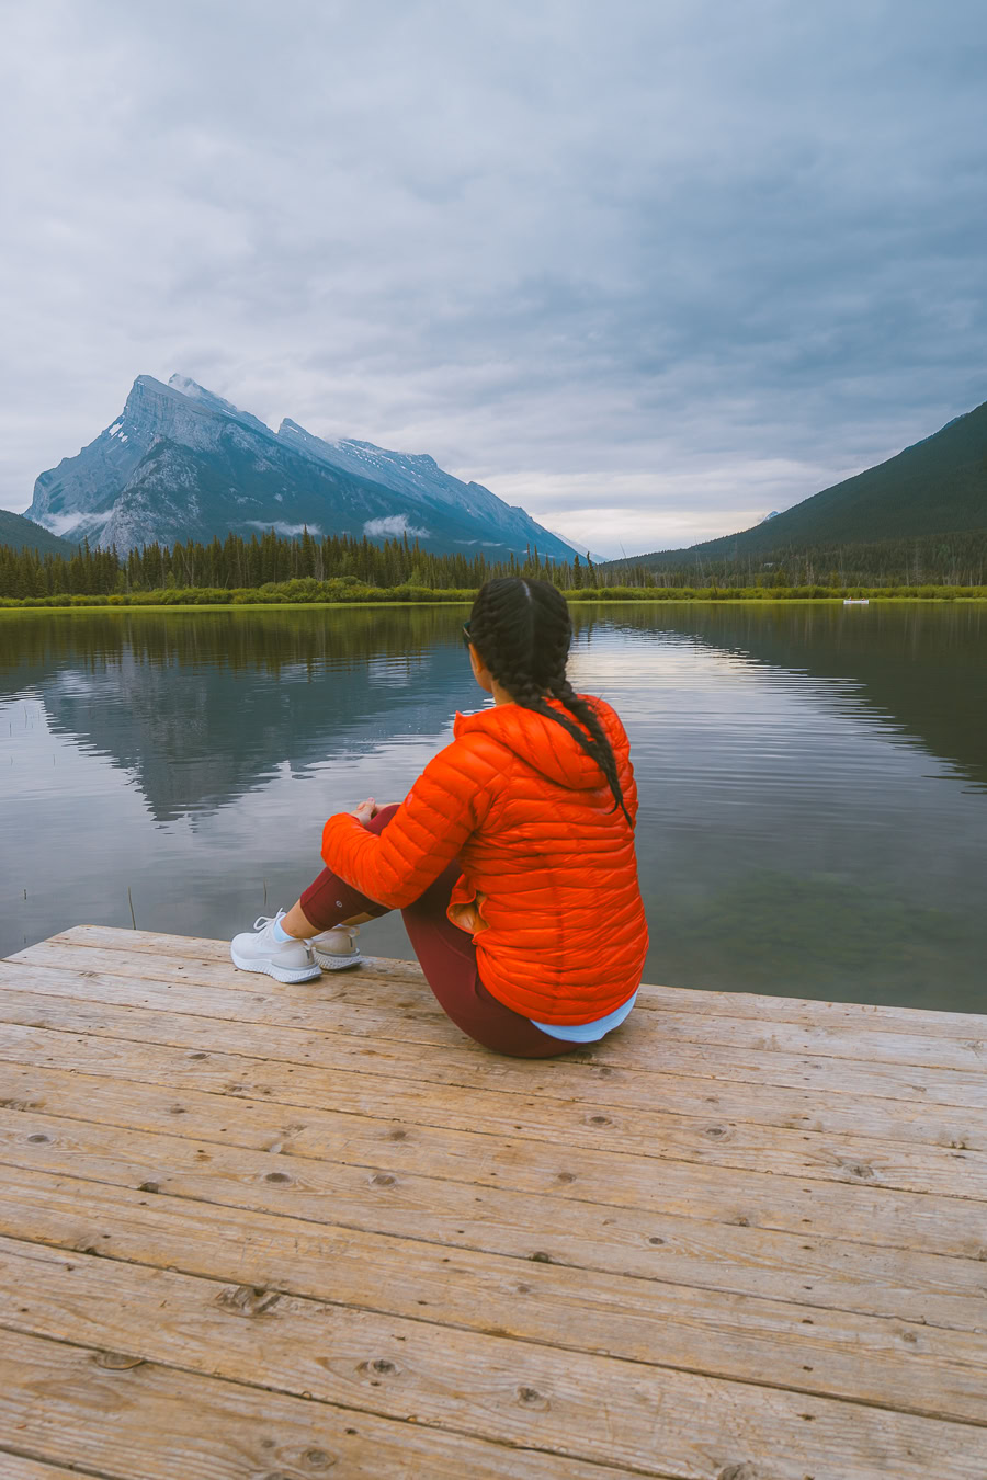
<svg viewBox="0 0 987 1480">
<path fill-rule="evenodd" d="M 340 620 L 342 616 L 342 620 Z M 437 608 L 107 613 L 9 622 L 0 696 L 129 771 L 158 821 L 237 801 L 287 765 L 439 734 L 472 703 Z"/>
</svg>

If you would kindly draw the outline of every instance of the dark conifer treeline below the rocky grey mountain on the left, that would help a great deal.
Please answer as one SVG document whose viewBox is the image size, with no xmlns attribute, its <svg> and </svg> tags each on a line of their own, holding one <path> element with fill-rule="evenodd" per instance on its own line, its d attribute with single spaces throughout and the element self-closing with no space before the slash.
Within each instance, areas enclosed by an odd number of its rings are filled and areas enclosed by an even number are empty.
<svg viewBox="0 0 987 1480">
<path fill-rule="evenodd" d="M 228 534 L 212 545 L 189 542 L 145 545 L 118 555 L 115 549 L 80 549 L 65 558 L 38 555 L 0 546 L 0 596 L 110 596 L 178 589 L 260 591 L 284 582 L 337 580 L 351 585 L 394 589 L 423 586 L 429 591 L 478 589 L 491 576 L 525 574 L 555 580 L 564 589 L 595 585 L 589 558 L 574 556 L 571 565 L 545 561 L 537 549 L 524 561 L 511 555 L 490 561 L 475 555 L 434 555 L 417 540 L 386 540 L 327 536 L 315 539 L 305 531 L 300 539 L 281 539 L 274 530 L 250 540 Z"/>
</svg>

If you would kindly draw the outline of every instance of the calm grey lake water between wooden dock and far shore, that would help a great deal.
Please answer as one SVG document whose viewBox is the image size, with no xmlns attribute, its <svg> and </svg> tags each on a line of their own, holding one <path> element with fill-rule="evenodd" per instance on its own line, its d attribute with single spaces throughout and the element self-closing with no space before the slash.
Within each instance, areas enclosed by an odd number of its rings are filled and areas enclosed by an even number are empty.
<svg viewBox="0 0 987 1480">
<path fill-rule="evenodd" d="M 459 607 L 0 616 L 0 955 L 228 937 L 484 702 Z M 645 980 L 987 1011 L 987 607 L 595 605 L 641 792 Z M 587 931 L 605 929 L 592 919 Z M 410 956 L 398 916 L 367 950 Z"/>
</svg>

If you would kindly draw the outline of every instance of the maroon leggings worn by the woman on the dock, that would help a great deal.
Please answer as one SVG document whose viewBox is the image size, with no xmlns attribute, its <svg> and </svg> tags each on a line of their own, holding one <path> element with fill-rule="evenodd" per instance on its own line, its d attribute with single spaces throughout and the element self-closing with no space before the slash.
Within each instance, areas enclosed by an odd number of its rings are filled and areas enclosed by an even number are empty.
<svg viewBox="0 0 987 1480">
<path fill-rule="evenodd" d="M 397 805 L 383 807 L 367 824 L 368 830 L 383 832 L 397 810 Z M 487 992 L 476 971 L 476 947 L 466 931 L 453 925 L 445 913 L 453 885 L 462 872 L 453 858 L 435 884 L 431 884 L 414 904 L 401 910 L 408 940 L 439 1006 L 456 1027 L 497 1054 L 511 1054 L 513 1058 L 553 1058 L 556 1054 L 571 1054 L 573 1049 L 583 1046 L 550 1037 Z M 352 915 L 376 918 L 389 913 L 386 904 L 377 904 L 352 885 L 343 884 L 331 869 L 323 869 L 318 879 L 305 889 L 299 904 L 305 918 L 320 931 L 331 929 Z"/>
</svg>

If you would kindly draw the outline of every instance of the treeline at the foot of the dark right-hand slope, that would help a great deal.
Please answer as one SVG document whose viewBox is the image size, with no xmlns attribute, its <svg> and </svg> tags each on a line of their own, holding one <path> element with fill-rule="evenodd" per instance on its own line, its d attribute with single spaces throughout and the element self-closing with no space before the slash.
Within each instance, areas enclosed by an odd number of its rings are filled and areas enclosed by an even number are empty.
<svg viewBox="0 0 987 1480">
<path fill-rule="evenodd" d="M 596 567 L 596 577 L 632 586 L 981 586 L 987 580 L 987 530 L 778 549 L 732 559 L 672 551 L 607 561 Z"/>
</svg>

